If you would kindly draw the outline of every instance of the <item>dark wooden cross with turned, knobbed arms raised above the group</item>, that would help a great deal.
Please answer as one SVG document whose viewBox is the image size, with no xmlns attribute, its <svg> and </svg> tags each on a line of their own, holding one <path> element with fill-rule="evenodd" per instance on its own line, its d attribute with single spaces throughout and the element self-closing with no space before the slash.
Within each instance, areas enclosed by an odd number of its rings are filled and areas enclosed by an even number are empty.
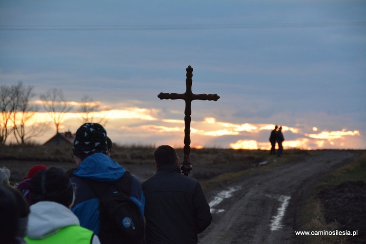
<svg viewBox="0 0 366 244">
<path fill-rule="evenodd" d="M 186 69 L 187 74 L 185 79 L 186 90 L 184 93 L 163 93 L 161 92 L 158 95 L 158 98 L 162 99 L 183 99 L 185 101 L 185 109 L 184 109 L 184 159 L 183 165 L 181 166 L 182 173 L 185 176 L 188 176 L 191 173 L 192 165 L 189 159 L 189 153 L 191 151 L 191 147 L 189 146 L 191 143 L 190 132 L 191 132 L 191 102 L 193 100 L 208 100 L 208 101 L 217 101 L 220 96 L 217 94 L 193 94 L 192 93 L 192 76 L 193 76 L 193 68 L 189 65 Z"/>
</svg>

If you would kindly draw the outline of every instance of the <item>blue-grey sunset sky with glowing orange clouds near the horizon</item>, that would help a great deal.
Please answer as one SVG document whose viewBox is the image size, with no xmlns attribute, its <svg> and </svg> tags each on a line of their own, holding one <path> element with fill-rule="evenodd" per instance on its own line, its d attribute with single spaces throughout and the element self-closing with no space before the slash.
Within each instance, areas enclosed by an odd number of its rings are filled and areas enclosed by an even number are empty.
<svg viewBox="0 0 366 244">
<path fill-rule="evenodd" d="M 183 146 L 183 93 L 193 101 L 191 146 L 366 149 L 366 1 L 0 1 L 0 85 L 34 87 L 38 138 L 56 133 L 40 95 L 61 88 L 81 125 L 81 97 L 100 106 L 120 144 Z"/>
</svg>

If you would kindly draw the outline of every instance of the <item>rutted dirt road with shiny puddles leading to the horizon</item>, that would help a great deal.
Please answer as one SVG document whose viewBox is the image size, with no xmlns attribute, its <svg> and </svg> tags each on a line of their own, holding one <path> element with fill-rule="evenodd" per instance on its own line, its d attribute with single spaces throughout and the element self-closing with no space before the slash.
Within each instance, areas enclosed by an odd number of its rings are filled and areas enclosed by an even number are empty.
<svg viewBox="0 0 366 244">
<path fill-rule="evenodd" d="M 356 156 L 354 151 L 313 151 L 304 159 L 247 174 L 209 191 L 213 221 L 199 235 L 199 243 L 298 243 L 296 211 L 305 190 Z"/>
</svg>

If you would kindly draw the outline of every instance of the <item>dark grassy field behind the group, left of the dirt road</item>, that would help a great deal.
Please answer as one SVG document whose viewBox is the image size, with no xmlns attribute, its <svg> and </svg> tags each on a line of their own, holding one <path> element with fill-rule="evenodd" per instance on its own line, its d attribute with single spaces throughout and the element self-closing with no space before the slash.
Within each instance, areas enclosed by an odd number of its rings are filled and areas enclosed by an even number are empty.
<svg viewBox="0 0 366 244">
<path fill-rule="evenodd" d="M 111 158 L 125 167 L 136 168 L 138 165 L 153 167 L 155 146 L 124 145 L 112 148 Z M 182 148 L 176 148 L 180 162 L 183 161 Z M 256 170 L 261 162 L 266 167 L 276 161 L 276 165 L 286 163 L 294 157 L 303 157 L 308 151 L 286 150 L 284 157 L 270 156 L 266 150 L 234 150 L 220 148 L 191 148 L 190 162 L 193 165 L 191 176 L 200 181 L 203 188 L 222 183 L 243 175 L 247 170 Z M 12 183 L 19 183 L 29 168 L 35 164 L 59 166 L 64 169 L 74 167 L 71 159 L 72 146 L 18 146 L 0 147 L 0 166 L 13 171 Z M 17 166 L 15 166 L 16 163 Z"/>
</svg>

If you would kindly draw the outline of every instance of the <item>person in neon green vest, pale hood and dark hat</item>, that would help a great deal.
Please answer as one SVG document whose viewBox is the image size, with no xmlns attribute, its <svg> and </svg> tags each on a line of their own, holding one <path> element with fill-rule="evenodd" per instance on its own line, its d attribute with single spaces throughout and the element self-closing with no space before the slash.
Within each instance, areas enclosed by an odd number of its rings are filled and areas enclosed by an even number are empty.
<svg viewBox="0 0 366 244">
<path fill-rule="evenodd" d="M 93 231 L 80 226 L 71 212 L 74 189 L 61 169 L 51 167 L 38 171 L 31 179 L 34 204 L 30 206 L 28 244 L 67 243 L 100 244 Z"/>
</svg>

